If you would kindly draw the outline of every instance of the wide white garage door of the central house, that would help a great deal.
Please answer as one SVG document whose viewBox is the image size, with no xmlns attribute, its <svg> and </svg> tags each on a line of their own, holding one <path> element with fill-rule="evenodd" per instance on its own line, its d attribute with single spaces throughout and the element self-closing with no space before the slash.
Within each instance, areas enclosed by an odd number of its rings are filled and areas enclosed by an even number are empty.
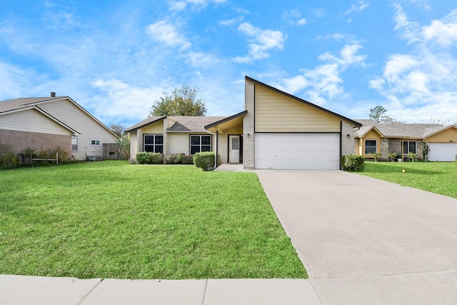
<svg viewBox="0 0 457 305">
<path fill-rule="evenodd" d="M 255 134 L 256 169 L 339 169 L 339 134 Z"/>
</svg>

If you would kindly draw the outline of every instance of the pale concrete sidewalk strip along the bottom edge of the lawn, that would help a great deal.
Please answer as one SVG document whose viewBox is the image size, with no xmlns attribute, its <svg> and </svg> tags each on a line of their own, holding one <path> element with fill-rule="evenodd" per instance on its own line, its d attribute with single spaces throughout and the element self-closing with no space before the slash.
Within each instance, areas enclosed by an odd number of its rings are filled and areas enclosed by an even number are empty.
<svg viewBox="0 0 457 305">
<path fill-rule="evenodd" d="M 320 305 L 305 279 L 128 280 L 0 275 L 1 305 L 308 304 Z"/>
</svg>

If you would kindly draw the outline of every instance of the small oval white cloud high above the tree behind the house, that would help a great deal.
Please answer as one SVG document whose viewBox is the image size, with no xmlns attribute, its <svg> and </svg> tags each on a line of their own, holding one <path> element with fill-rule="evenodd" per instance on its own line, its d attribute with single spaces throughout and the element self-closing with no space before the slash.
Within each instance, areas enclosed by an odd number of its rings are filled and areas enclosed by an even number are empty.
<svg viewBox="0 0 457 305">
<path fill-rule="evenodd" d="M 162 20 L 150 24 L 146 31 L 154 40 L 160 41 L 167 46 L 181 46 L 182 48 L 191 46 L 191 43 L 186 40 L 186 37 L 179 34 L 176 26 L 170 24 L 168 21 Z"/>
</svg>

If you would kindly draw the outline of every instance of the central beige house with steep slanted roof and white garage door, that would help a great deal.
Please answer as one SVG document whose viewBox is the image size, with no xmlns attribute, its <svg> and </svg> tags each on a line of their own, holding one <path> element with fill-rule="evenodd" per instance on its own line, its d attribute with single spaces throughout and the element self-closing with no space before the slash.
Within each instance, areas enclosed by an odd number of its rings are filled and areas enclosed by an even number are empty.
<svg viewBox="0 0 457 305">
<path fill-rule="evenodd" d="M 245 169 L 340 169 L 356 121 L 246 76 L 245 110 L 232 116 L 151 116 L 126 129 L 139 151 L 215 151 Z"/>
</svg>

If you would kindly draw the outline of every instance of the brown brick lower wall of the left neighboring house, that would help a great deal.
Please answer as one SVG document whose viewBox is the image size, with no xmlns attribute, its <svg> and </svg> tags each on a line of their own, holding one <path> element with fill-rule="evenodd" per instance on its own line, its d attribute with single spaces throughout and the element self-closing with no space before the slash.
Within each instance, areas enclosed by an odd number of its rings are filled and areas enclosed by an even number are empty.
<svg viewBox="0 0 457 305">
<path fill-rule="evenodd" d="M 25 149 L 56 149 L 58 146 L 71 155 L 71 134 L 45 134 L 41 132 L 0 129 L 0 143 L 10 145 L 16 154 Z"/>
</svg>

